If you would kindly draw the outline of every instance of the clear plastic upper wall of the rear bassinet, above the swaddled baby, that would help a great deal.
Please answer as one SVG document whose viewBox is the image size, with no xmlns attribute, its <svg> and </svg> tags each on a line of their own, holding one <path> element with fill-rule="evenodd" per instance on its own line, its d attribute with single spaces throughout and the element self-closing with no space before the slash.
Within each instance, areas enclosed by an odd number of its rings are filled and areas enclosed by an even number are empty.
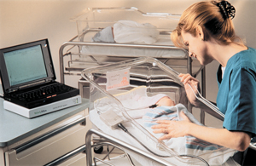
<svg viewBox="0 0 256 166">
<path fill-rule="evenodd" d="M 86 9 L 83 14 L 73 17 L 77 22 L 79 35 L 86 28 L 113 26 L 118 20 L 133 20 L 138 23 L 150 23 L 162 30 L 173 30 L 180 14 L 146 13 L 136 8 Z"/>
</svg>

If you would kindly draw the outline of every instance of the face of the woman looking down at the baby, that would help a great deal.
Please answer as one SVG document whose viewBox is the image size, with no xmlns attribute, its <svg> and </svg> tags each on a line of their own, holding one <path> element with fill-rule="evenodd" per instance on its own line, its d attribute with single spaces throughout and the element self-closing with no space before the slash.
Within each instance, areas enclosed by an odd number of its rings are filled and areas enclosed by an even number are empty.
<svg viewBox="0 0 256 166">
<path fill-rule="evenodd" d="M 195 57 L 203 66 L 212 62 L 211 56 L 207 54 L 207 44 L 205 41 L 201 40 L 199 34 L 194 37 L 189 32 L 182 31 L 182 37 L 184 44 L 189 49 L 190 57 Z"/>
</svg>

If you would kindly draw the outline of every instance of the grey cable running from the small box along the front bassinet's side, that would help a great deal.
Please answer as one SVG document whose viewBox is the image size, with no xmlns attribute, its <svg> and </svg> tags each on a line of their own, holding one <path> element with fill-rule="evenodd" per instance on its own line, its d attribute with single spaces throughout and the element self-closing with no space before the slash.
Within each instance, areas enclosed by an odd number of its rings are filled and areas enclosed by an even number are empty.
<svg viewBox="0 0 256 166">
<path fill-rule="evenodd" d="M 163 155 L 159 155 L 159 154 L 157 154 L 157 153 L 155 153 L 155 152 L 152 152 L 147 146 L 145 146 L 145 145 L 143 144 L 143 142 L 141 142 L 140 140 L 138 140 L 134 135 L 131 135 L 131 133 L 128 131 L 128 129 L 125 128 L 125 126 L 124 126 L 122 123 L 119 123 L 119 124 L 118 124 L 118 127 L 119 127 L 120 129 L 122 129 L 123 131 L 125 131 L 125 133 L 127 133 L 128 135 L 130 135 L 133 139 L 137 140 L 137 142 L 140 143 L 143 147 L 145 147 L 145 148 L 148 150 L 148 152 L 151 152 L 152 154 L 154 154 L 154 155 L 156 155 L 156 156 L 158 156 L 158 157 L 172 157 L 172 156 L 163 156 Z M 207 166 L 210 166 L 210 165 L 207 163 L 207 161 L 204 160 L 204 159 L 201 158 L 201 157 L 197 157 L 197 156 L 194 156 L 194 155 L 186 155 L 186 154 L 184 154 L 184 155 L 179 155 L 179 156 L 180 156 L 180 157 L 195 157 L 195 158 L 201 160 L 201 162 L 206 163 Z"/>
</svg>

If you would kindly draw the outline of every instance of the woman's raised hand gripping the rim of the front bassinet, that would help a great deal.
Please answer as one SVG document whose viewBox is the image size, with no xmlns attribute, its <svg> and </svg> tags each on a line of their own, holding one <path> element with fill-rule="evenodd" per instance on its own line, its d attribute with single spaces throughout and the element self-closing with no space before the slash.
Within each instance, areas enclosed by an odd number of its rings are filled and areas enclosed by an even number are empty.
<svg viewBox="0 0 256 166">
<path fill-rule="evenodd" d="M 198 91 L 200 91 L 199 80 L 195 79 L 195 77 L 192 77 L 190 74 L 179 74 L 178 77 L 181 77 L 181 82 L 184 84 L 190 103 L 194 106 L 199 106 L 201 102 L 195 97 L 195 94 L 197 95 Z M 192 87 L 194 93 L 189 85 Z"/>
</svg>

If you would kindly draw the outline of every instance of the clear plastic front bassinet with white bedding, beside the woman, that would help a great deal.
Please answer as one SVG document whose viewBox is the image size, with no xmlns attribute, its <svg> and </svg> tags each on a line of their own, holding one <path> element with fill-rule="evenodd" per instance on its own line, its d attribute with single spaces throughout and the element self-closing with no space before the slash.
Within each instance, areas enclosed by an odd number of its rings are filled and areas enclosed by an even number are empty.
<svg viewBox="0 0 256 166">
<path fill-rule="evenodd" d="M 130 136 L 117 126 L 117 123 L 121 122 L 126 129 L 130 130 L 131 135 L 136 137 L 136 139 L 124 140 L 125 142 L 141 146 L 145 151 L 153 152 L 154 155 L 163 157 L 172 164 L 221 165 L 234 154 L 234 150 L 210 145 L 212 149 L 206 146 L 208 149 L 200 152 L 187 149 L 182 152 L 176 151 L 170 142 L 158 140 L 149 128 L 143 126 L 142 121 L 134 119 L 129 113 L 136 109 L 140 112 L 142 109 L 141 106 L 134 108 L 134 103 L 131 103 L 136 102 L 130 99 L 136 98 L 137 94 L 148 98 L 159 94 L 167 95 L 178 106 L 188 108 L 189 100 L 187 100 L 183 83 L 177 77 L 178 74 L 159 60 L 149 57 L 85 69 L 82 77 L 90 82 L 90 120 L 99 129 L 104 125 L 106 129 L 101 129 L 104 133 L 118 139 L 122 137 L 128 139 L 127 137 Z M 121 119 L 120 122 L 119 119 Z M 115 132 L 118 133 L 115 134 Z M 174 144 L 175 141 L 171 143 Z"/>
</svg>

